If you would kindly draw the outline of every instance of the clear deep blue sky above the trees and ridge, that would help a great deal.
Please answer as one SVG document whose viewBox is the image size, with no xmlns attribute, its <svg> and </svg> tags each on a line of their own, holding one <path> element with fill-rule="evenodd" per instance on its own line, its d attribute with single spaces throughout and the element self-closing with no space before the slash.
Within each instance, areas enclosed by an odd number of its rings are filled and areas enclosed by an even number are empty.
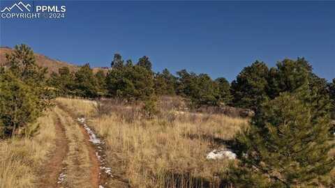
<svg viewBox="0 0 335 188">
<path fill-rule="evenodd" d="M 17 2 L 17 1 L 16 1 Z M 1 1 L 1 4 L 13 1 Z M 335 1 L 62 1 L 66 19 L 1 19 L 1 46 L 25 43 L 75 64 L 110 66 L 114 53 L 154 70 L 230 81 L 255 60 L 304 56 L 335 77 Z"/>
</svg>

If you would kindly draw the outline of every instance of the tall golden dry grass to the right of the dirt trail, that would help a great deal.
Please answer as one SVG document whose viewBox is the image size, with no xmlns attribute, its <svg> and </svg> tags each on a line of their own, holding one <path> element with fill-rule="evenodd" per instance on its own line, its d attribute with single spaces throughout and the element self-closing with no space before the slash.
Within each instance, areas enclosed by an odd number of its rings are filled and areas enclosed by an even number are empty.
<svg viewBox="0 0 335 188">
<path fill-rule="evenodd" d="M 206 155 L 247 124 L 240 118 L 175 111 L 145 119 L 140 109 L 121 105 L 94 117 L 92 102 L 59 102 L 91 116 L 89 125 L 107 143 L 113 174 L 131 187 L 218 187 L 218 174 L 227 169 L 228 161 L 208 160 Z"/>
</svg>

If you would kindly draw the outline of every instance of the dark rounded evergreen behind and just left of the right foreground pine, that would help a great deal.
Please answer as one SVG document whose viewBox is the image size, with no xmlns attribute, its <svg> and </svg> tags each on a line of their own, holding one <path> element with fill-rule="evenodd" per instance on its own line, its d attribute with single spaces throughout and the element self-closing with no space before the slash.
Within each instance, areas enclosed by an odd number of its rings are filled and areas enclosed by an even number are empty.
<svg viewBox="0 0 335 188">
<path fill-rule="evenodd" d="M 232 102 L 235 107 L 256 110 L 267 98 L 269 68 L 260 61 L 244 68 L 232 81 Z"/>
</svg>

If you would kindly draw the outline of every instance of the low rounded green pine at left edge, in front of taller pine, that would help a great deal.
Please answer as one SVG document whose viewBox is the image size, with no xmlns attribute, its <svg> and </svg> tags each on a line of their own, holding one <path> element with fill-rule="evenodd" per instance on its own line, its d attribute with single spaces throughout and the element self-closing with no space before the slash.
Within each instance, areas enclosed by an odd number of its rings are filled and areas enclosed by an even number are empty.
<svg viewBox="0 0 335 188">
<path fill-rule="evenodd" d="M 42 111 L 34 88 L 10 71 L 0 75 L 0 137 L 14 136 L 27 129 Z"/>
</svg>

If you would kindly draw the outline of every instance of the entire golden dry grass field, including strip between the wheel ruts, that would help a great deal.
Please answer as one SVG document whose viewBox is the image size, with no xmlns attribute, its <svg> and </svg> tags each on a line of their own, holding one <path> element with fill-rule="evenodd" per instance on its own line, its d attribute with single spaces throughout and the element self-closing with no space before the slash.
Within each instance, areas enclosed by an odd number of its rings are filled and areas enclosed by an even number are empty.
<svg viewBox="0 0 335 188">
<path fill-rule="evenodd" d="M 64 185 L 90 187 L 92 162 L 87 138 L 73 116 L 87 118 L 105 141 L 105 159 L 113 175 L 107 180 L 109 187 L 232 187 L 220 177 L 234 160 L 206 157 L 211 150 L 224 147 L 248 120 L 178 111 L 178 103 L 168 102 L 168 106 L 161 102 L 161 113 L 147 118 L 138 104 L 58 98 L 57 104 L 66 111 L 55 107 L 39 118 L 36 136 L 0 141 L 0 188 L 38 187 L 38 172 L 59 138 L 55 134 L 57 118 L 66 125 Z M 335 155 L 335 150 L 329 155 Z M 335 170 L 332 177 L 334 180 Z"/>
</svg>

